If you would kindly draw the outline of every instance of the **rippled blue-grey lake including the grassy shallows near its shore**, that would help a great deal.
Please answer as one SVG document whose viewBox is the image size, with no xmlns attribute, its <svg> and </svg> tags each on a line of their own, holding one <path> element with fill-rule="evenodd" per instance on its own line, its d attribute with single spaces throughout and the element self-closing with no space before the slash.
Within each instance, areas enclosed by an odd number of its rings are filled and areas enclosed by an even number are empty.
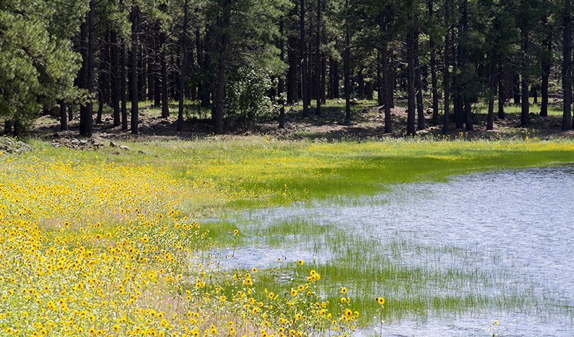
<svg viewBox="0 0 574 337">
<path fill-rule="evenodd" d="M 386 186 L 375 196 L 254 210 L 237 216 L 251 245 L 228 263 L 264 268 L 285 256 L 329 265 L 352 260 L 348 243 L 363 252 L 357 259 L 363 267 L 387 265 L 406 275 L 349 272 L 337 279 L 354 295 L 383 295 L 397 307 L 382 326 L 373 317 L 358 335 L 572 336 L 573 192 L 574 167 L 561 166 L 463 174 Z M 301 222 L 313 232 L 298 232 Z M 292 233 L 265 231 L 279 223 L 292 224 Z M 352 239 L 334 243 L 335 232 Z M 427 305 L 408 307 L 416 298 Z M 445 299 L 455 304 L 430 304 Z"/>
</svg>

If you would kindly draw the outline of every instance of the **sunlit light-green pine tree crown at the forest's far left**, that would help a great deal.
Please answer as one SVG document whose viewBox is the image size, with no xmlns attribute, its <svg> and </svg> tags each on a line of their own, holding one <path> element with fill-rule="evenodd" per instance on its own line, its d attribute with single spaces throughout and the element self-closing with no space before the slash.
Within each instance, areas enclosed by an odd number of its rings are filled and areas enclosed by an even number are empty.
<svg viewBox="0 0 574 337">
<path fill-rule="evenodd" d="M 14 133 L 32 122 L 40 106 L 73 101 L 80 56 L 70 38 L 87 11 L 84 1 L 0 2 L 0 118 Z"/>
</svg>

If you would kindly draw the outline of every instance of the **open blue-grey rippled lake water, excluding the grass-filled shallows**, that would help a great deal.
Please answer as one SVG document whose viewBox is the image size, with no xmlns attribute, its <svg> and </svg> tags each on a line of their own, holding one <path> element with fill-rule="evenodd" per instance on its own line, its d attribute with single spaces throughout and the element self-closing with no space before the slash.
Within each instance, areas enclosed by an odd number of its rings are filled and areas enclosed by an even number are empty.
<svg viewBox="0 0 574 337">
<path fill-rule="evenodd" d="M 405 317 L 382 324 L 383 336 L 574 336 L 573 166 L 397 184 L 366 197 L 365 202 L 296 205 L 256 211 L 247 217 L 254 227 L 261 227 L 311 215 L 315 222 L 328 221 L 371 242 L 380 242 L 382 247 L 392 238 L 408 242 L 398 257 L 389 253 L 397 264 L 420 265 L 420 260 L 434 260 L 451 268 L 504 274 L 499 284 L 494 282 L 489 288 L 494 296 L 503 294 L 507 287 L 514 292 L 524 289 L 541 303 L 539 307 L 526 305 L 524 310 L 487 308 L 451 316 L 429 314 L 425 319 Z M 435 253 L 411 249 L 418 246 L 438 248 Z M 301 247 L 255 245 L 245 248 L 236 255 L 240 258 L 230 263 L 266 267 L 277 255 L 330 258 L 330 253 L 320 255 Z M 469 251 L 470 257 L 458 259 L 458 253 L 448 253 L 452 251 Z M 454 287 L 447 291 L 465 290 Z M 494 320 L 499 324 L 492 326 Z M 379 333 L 380 326 L 358 332 L 370 336 Z"/>
</svg>

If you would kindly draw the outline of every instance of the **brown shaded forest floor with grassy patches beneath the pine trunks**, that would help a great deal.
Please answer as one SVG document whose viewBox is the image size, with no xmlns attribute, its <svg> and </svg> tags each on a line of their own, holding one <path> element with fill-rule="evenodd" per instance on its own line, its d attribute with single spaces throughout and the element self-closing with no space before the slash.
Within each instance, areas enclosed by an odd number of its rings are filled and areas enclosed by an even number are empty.
<svg viewBox="0 0 574 337">
<path fill-rule="evenodd" d="M 337 104 L 338 103 L 338 104 Z M 172 109 L 173 110 L 173 109 Z M 520 126 L 520 112 L 517 106 L 509 106 L 507 110 L 518 112 L 506 113 L 505 119 L 499 119 L 495 113 L 494 130 L 486 129 L 486 113 L 474 113 L 474 129 L 456 129 L 454 120 L 449 123 L 450 132 L 447 136 L 442 133 L 442 115 L 439 125 L 432 126 L 432 115 L 425 115 L 425 129 L 417 131 L 418 136 L 435 139 L 553 139 L 572 138 L 574 131 L 562 131 L 561 115 L 539 116 L 539 108 L 530 106 L 530 127 Z M 286 108 L 285 128 L 278 127 L 277 120 L 258 122 L 255 127 L 238 127 L 226 130 L 229 136 L 261 135 L 273 136 L 280 139 L 312 139 L 315 141 L 361 140 L 397 138 L 406 134 L 406 108 L 392 109 L 392 132 L 385 133 L 385 110 L 382 106 L 368 103 L 354 103 L 351 107 L 351 121 L 345 119 L 344 102 L 323 106 L 322 114 L 316 115 L 315 108 L 309 108 L 311 117 L 302 117 L 301 105 Z M 30 129 L 30 136 L 44 139 L 74 138 L 79 134 L 79 120 L 75 117 L 68 122 L 68 131 L 60 130 L 57 118 L 49 115 L 39 117 Z M 128 120 L 129 125 L 129 120 Z M 209 120 L 186 119 L 182 132 L 177 132 L 177 110 L 168 118 L 161 118 L 159 109 L 153 106 L 143 106 L 139 112 L 139 134 L 132 135 L 131 130 L 113 127 L 109 115 L 104 115 L 101 123 L 94 121 L 93 135 L 105 139 L 196 139 L 213 135 L 214 129 Z"/>
</svg>

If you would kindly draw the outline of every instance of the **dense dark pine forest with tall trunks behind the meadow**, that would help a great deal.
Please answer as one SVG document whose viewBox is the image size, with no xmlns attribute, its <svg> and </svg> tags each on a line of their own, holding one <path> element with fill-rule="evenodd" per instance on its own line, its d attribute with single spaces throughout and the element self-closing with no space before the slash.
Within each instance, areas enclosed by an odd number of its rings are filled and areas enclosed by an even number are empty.
<svg viewBox="0 0 574 337">
<path fill-rule="evenodd" d="M 404 96 L 407 134 L 428 127 L 428 109 L 446 133 L 473 129 L 479 99 L 487 129 L 509 102 L 528 127 L 558 84 L 567 130 L 572 11 L 571 0 L 0 0 L 0 119 L 19 134 L 42 112 L 61 129 L 79 113 L 91 136 L 108 107 L 137 134 L 141 102 L 165 118 L 176 100 L 178 131 L 203 112 L 222 134 L 269 113 L 282 127 L 285 104 L 320 115 L 329 98 L 351 119 L 352 98 L 375 98 L 392 132 Z"/>
</svg>

